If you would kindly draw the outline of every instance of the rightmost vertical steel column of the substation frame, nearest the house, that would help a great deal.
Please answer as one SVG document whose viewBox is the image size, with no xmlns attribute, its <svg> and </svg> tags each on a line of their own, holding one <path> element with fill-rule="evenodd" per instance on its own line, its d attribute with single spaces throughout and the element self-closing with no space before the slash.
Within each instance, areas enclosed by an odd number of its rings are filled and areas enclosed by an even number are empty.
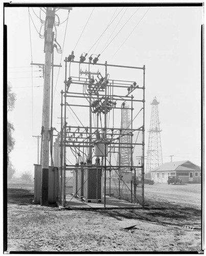
<svg viewBox="0 0 206 256">
<path fill-rule="evenodd" d="M 143 67 L 143 134 L 142 134 L 142 204 L 145 204 L 144 177 L 145 177 L 145 65 Z"/>
</svg>

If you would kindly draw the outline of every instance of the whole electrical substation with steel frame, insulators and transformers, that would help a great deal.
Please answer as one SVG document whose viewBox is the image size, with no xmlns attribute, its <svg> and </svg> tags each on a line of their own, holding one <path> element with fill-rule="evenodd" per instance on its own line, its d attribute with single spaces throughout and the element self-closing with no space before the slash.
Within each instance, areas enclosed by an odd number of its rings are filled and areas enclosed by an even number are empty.
<svg viewBox="0 0 206 256">
<path fill-rule="evenodd" d="M 140 207 L 144 205 L 145 66 L 74 57 L 72 52 L 64 59 L 61 131 L 53 134 L 57 202 L 70 209 Z"/>
</svg>

